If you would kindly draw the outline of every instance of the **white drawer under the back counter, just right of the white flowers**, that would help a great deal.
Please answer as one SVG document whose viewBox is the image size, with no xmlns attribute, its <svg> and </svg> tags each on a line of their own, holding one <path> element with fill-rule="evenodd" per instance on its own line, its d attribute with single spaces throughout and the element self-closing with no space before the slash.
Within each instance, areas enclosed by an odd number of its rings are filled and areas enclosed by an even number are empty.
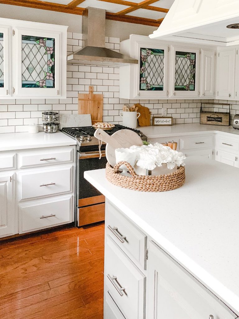
<svg viewBox="0 0 239 319">
<path fill-rule="evenodd" d="M 197 149 L 197 148 L 213 148 L 213 137 L 182 137 L 180 140 L 180 149 Z"/>
</svg>

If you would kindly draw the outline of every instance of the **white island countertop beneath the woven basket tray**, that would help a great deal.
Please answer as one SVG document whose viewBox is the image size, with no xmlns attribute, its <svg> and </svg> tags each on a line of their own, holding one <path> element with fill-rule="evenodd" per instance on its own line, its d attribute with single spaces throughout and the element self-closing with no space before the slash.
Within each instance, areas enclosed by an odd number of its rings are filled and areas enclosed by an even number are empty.
<svg viewBox="0 0 239 319">
<path fill-rule="evenodd" d="M 168 192 L 120 188 L 105 169 L 84 177 L 239 315 L 239 170 L 194 156 L 185 162 L 185 184 Z"/>
</svg>

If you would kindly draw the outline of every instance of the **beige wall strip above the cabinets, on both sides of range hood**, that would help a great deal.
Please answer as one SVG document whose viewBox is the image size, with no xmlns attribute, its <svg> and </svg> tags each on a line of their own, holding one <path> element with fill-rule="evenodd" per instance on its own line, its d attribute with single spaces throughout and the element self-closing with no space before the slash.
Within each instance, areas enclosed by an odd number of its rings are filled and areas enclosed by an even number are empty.
<svg viewBox="0 0 239 319">
<path fill-rule="evenodd" d="M 28 20 L 69 26 L 69 32 L 82 32 L 82 16 L 55 11 L 39 10 L 0 4 L 0 17 L 9 19 Z M 130 34 L 148 35 L 156 27 L 142 26 L 133 23 L 106 20 L 106 36 L 125 40 Z"/>
</svg>

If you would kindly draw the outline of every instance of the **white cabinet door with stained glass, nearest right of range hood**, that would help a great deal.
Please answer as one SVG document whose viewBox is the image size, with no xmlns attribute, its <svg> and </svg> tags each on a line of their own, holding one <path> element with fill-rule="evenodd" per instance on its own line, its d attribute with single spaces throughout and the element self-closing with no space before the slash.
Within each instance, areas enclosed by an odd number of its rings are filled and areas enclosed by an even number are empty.
<svg viewBox="0 0 239 319">
<path fill-rule="evenodd" d="M 138 43 L 136 96 L 166 97 L 168 75 L 168 46 Z"/>
</svg>

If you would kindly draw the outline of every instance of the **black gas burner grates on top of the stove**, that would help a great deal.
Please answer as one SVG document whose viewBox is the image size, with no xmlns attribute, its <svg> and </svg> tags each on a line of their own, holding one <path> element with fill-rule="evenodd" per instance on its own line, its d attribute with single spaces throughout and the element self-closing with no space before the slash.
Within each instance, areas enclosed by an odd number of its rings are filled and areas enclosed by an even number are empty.
<svg viewBox="0 0 239 319">
<path fill-rule="evenodd" d="M 131 129 L 131 128 L 128 128 L 126 126 L 120 125 L 120 124 L 115 124 L 115 127 L 113 127 L 112 130 L 107 130 L 107 134 L 112 135 L 113 133 L 115 133 L 119 130 L 132 130 L 139 135 L 141 133 L 140 130 Z M 62 128 L 62 131 L 69 134 L 70 136 L 74 136 L 74 137 L 76 137 L 77 135 L 93 136 L 95 133 L 95 129 L 92 126 L 64 127 L 64 128 Z"/>
</svg>

